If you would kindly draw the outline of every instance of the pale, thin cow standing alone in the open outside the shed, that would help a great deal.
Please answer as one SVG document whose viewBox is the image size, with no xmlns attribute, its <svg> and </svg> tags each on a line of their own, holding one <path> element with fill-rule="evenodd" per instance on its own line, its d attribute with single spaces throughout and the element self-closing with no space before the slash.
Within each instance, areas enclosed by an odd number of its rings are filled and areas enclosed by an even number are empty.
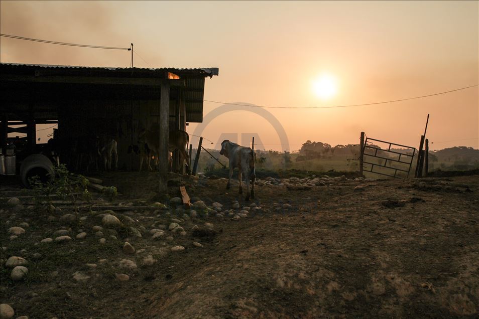
<svg viewBox="0 0 479 319">
<path fill-rule="evenodd" d="M 256 172 L 255 172 L 255 151 L 250 147 L 240 146 L 236 143 L 230 142 L 229 140 L 223 140 L 221 142 L 221 155 L 228 157 L 229 159 L 229 179 L 226 189 L 229 189 L 231 185 L 231 176 L 233 175 L 233 170 L 238 168 L 238 181 L 240 182 L 240 194 L 243 193 L 242 185 L 242 175 L 245 175 L 246 179 L 246 198 L 245 200 L 250 200 L 250 180 L 251 180 L 251 198 L 255 198 L 255 181 L 256 181 Z"/>
</svg>

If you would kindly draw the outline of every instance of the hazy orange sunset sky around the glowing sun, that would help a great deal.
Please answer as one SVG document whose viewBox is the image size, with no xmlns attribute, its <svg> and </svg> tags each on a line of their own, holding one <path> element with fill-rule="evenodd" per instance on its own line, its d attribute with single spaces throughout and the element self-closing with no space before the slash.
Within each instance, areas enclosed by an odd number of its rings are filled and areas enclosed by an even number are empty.
<svg viewBox="0 0 479 319">
<path fill-rule="evenodd" d="M 206 79 L 204 99 L 228 103 L 350 105 L 479 84 L 477 1 L 2 1 L 0 31 L 79 44 L 134 43 L 136 67 L 218 67 L 219 76 Z M 130 66 L 128 51 L 0 40 L 2 62 Z M 313 89 L 324 74 L 336 82 L 336 94 L 327 99 Z M 204 116 L 222 104 L 205 102 Z M 284 150 L 271 122 L 247 109 L 209 122 L 201 133 L 214 142 L 209 147 L 221 136 L 247 144 L 242 135 L 257 134 L 266 149 Z M 477 86 L 371 106 L 266 110 L 284 128 L 291 150 L 306 140 L 358 143 L 361 131 L 418 147 L 428 113 L 430 149 L 479 148 Z"/>
</svg>

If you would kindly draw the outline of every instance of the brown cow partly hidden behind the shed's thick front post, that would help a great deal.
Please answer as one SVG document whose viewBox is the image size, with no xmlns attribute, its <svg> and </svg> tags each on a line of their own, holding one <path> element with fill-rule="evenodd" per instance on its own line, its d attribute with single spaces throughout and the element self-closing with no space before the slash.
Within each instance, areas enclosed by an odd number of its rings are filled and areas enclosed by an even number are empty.
<svg viewBox="0 0 479 319">
<path fill-rule="evenodd" d="M 172 166 L 172 152 L 175 149 L 178 149 L 180 152 L 180 164 L 183 164 L 183 161 L 186 160 L 186 163 L 189 163 L 188 152 L 186 147 L 188 146 L 189 135 L 187 132 L 182 130 L 173 130 L 168 133 L 168 163 L 170 164 L 170 169 Z M 160 153 L 160 140 L 159 140 L 159 131 L 158 130 L 149 130 L 146 129 L 140 133 L 138 137 L 139 144 L 146 144 L 147 147 L 156 154 Z M 158 159 L 158 157 L 157 157 Z"/>
</svg>

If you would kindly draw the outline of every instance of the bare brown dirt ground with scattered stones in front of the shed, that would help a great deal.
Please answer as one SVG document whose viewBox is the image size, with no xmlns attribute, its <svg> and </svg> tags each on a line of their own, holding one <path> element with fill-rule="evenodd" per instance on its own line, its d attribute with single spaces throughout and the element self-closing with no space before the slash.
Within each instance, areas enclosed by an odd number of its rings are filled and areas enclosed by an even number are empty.
<svg viewBox="0 0 479 319">
<path fill-rule="evenodd" d="M 122 194 L 115 205 L 168 205 L 155 195 L 157 174 L 101 178 Z M 219 202 L 223 211 L 234 200 L 240 207 L 256 203 L 262 209 L 234 221 L 211 211 L 209 217 L 198 212 L 189 219 L 181 218 L 188 213 L 181 209 L 132 208 L 122 215 L 143 226 L 143 236 L 119 232 L 117 240 L 107 237 L 105 244 L 98 244 L 90 230 L 100 220 L 85 212 L 83 223 L 69 227 L 73 240 L 45 245 L 38 243 L 61 223 L 47 221 L 49 212 L 8 207 L 4 199 L 2 303 L 29 318 L 477 317 L 477 176 L 338 181 L 308 190 L 257 186 L 257 198 L 250 202 L 237 194 L 237 184 L 226 191 L 223 179 L 177 178 L 170 197 L 179 195 L 181 184 L 190 197 L 208 206 Z M 291 208 L 276 209 L 278 204 Z M 168 226 L 173 217 L 182 219 L 186 235 L 152 240 L 149 230 Z M 21 222 L 30 224 L 26 234 L 10 240 L 8 229 Z M 213 231 L 206 231 L 205 223 L 213 224 Z M 192 225 L 201 231 L 192 231 Z M 75 239 L 79 230 L 88 233 L 83 242 Z M 133 256 L 122 251 L 126 239 L 137 249 Z M 185 250 L 173 253 L 172 245 Z M 33 258 L 34 253 L 41 257 Z M 156 262 L 140 266 L 145 255 Z M 26 280 L 10 279 L 4 266 L 10 256 L 28 260 Z M 115 279 L 122 272 L 120 259 L 139 265 L 123 271 L 128 281 Z M 85 266 L 92 263 L 96 266 Z M 89 278 L 72 279 L 76 271 Z"/>
</svg>

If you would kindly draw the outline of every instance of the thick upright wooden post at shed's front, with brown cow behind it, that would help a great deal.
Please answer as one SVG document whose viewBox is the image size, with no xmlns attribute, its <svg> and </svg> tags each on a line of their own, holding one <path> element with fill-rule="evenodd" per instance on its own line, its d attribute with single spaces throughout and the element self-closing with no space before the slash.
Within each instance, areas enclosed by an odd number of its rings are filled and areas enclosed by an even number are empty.
<svg viewBox="0 0 479 319">
<path fill-rule="evenodd" d="M 159 193 L 168 193 L 168 132 L 170 122 L 170 84 L 162 83 L 160 90 L 160 147 L 159 147 Z"/>
</svg>

